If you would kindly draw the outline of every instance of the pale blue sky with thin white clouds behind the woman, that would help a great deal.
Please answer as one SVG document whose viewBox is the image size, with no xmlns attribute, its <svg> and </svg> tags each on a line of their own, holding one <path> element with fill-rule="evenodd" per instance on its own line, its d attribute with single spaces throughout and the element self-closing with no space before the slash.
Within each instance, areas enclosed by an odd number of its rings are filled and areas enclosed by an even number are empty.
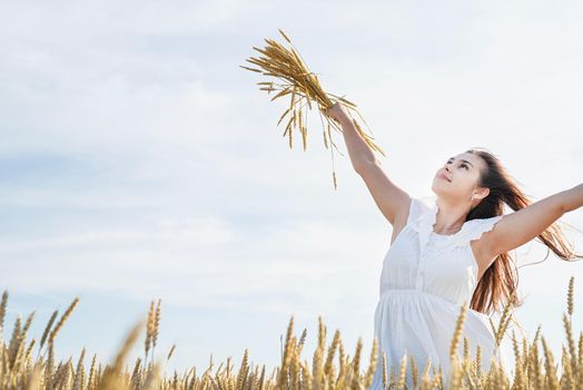
<svg viewBox="0 0 583 390">
<path fill-rule="evenodd" d="M 0 289 L 17 315 L 80 302 L 57 357 L 111 361 L 161 300 L 167 372 L 244 351 L 273 369 L 288 321 L 358 338 L 368 363 L 391 224 L 315 113 L 307 150 L 241 69 L 281 28 L 324 88 L 354 101 L 412 196 L 470 147 L 495 153 L 533 198 L 581 184 L 583 4 L 577 1 L 41 1 L 0 3 Z M 296 137 L 299 140 L 299 137 Z M 338 188 L 334 189 L 332 169 Z M 565 214 L 583 252 L 583 211 Z M 577 231 L 579 230 L 579 231 Z M 569 279 L 579 334 L 583 262 L 515 251 L 525 303 L 555 357 Z M 543 261 L 544 260 L 544 261 Z M 530 263 L 538 262 L 523 266 Z M 134 355 L 144 353 L 144 340 Z M 200 368 L 200 369 L 198 369 Z"/>
</svg>

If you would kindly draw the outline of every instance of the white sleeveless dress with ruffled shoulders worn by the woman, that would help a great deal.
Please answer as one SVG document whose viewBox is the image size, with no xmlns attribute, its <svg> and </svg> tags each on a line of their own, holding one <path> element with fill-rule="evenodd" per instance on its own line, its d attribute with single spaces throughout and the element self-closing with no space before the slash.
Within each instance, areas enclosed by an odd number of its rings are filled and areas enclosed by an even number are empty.
<svg viewBox="0 0 583 390">
<path fill-rule="evenodd" d="M 419 378 L 429 358 L 433 368 L 429 374 L 441 365 L 447 386 L 449 345 L 464 301 L 467 312 L 457 349 L 460 358 L 463 358 L 466 337 L 472 359 L 476 344 L 481 345 L 482 372 L 490 370 L 494 357 L 512 378 L 511 351 L 504 343 L 496 348 L 488 316 L 470 309 L 478 271 L 470 241 L 492 230 L 503 216 L 467 221 L 457 233 L 441 235 L 433 230 L 437 212 L 436 198 L 412 198 L 406 225 L 385 255 L 375 310 L 378 360 L 370 390 L 383 389 L 383 352 L 387 379 L 392 365 L 398 376 L 401 359 L 406 354 L 409 389 L 413 384 L 411 355 Z"/>
</svg>

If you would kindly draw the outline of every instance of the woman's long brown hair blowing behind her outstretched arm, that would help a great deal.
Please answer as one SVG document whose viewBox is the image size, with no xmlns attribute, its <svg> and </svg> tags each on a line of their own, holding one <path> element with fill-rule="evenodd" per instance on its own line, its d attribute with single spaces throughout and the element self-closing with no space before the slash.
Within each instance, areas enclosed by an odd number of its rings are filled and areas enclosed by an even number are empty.
<svg viewBox="0 0 583 390">
<path fill-rule="evenodd" d="M 502 215 L 504 204 L 514 211 L 532 204 L 530 197 L 518 187 L 494 154 L 484 148 L 471 148 L 467 153 L 480 156 L 486 163 L 487 169 L 481 172 L 478 184 L 490 188 L 490 194 L 470 211 L 466 221 Z M 556 222 L 542 232 L 537 238 L 547 247 L 546 256 L 543 260 L 549 257 L 550 251 L 565 261 L 583 259 L 573 252 Z M 515 295 L 517 286 L 516 264 L 507 252 L 501 253 L 477 283 L 471 308 L 490 314 L 493 311 L 500 311 L 508 301 L 514 308 L 521 306 L 524 302 L 517 294 Z"/>
</svg>

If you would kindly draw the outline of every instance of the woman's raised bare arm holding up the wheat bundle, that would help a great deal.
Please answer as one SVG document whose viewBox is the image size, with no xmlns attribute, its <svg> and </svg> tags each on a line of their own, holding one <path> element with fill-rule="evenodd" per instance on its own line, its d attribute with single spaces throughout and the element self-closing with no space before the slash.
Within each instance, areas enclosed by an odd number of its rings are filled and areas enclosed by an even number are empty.
<svg viewBox="0 0 583 390">
<path fill-rule="evenodd" d="M 373 150 L 363 139 L 344 106 L 336 104 L 328 114 L 342 126 L 348 156 L 356 173 L 364 179 L 381 213 L 395 227 L 407 218 L 411 196 L 395 185 L 381 168 Z"/>
</svg>

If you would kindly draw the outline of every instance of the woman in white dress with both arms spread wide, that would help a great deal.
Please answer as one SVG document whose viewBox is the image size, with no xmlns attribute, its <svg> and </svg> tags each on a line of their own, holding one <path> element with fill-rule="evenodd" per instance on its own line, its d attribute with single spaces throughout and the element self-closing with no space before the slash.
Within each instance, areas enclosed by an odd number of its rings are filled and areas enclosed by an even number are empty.
<svg viewBox="0 0 583 390">
<path fill-rule="evenodd" d="M 383 353 L 387 371 L 398 372 L 402 358 L 408 364 L 413 357 L 419 374 L 431 362 L 431 373 L 441 368 L 449 383 L 451 340 L 463 305 L 460 340 L 468 339 L 471 357 L 480 344 L 482 371 L 490 370 L 494 358 L 512 377 L 505 361 L 511 353 L 496 348 L 487 315 L 512 302 L 516 292 L 516 267 L 507 252 L 537 237 L 563 260 L 582 257 L 554 222 L 583 205 L 583 185 L 531 204 L 496 157 L 470 149 L 436 172 L 436 199 L 412 198 L 385 175 L 347 109 L 335 104 L 327 114 L 340 124 L 355 170 L 393 226 L 375 310 L 379 353 L 370 389 L 383 389 Z M 504 204 L 515 212 L 503 215 Z M 514 306 L 520 304 L 516 299 Z M 463 355 L 463 342 L 457 353 Z"/>
</svg>

